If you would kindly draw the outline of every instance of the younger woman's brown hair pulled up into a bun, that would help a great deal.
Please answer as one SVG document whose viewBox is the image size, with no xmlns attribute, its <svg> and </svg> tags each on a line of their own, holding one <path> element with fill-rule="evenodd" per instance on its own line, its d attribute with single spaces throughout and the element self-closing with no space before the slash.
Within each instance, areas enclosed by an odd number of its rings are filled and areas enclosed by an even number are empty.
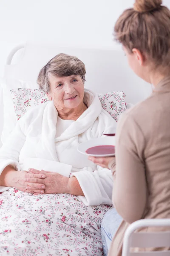
<svg viewBox="0 0 170 256">
<path fill-rule="evenodd" d="M 161 0 L 136 0 L 114 27 L 115 38 L 129 51 L 145 53 L 155 68 L 170 72 L 170 10 Z"/>
</svg>

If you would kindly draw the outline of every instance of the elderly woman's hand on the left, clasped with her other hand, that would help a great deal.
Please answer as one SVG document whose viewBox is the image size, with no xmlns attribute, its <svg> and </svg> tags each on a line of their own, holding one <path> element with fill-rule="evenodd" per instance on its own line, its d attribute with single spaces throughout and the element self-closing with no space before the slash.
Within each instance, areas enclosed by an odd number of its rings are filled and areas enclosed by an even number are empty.
<svg viewBox="0 0 170 256">
<path fill-rule="evenodd" d="M 13 172 L 11 174 L 11 185 L 21 191 L 28 193 L 44 193 L 45 186 L 43 180 L 46 177 L 45 174 L 34 174 L 28 171 Z M 31 181 L 27 181 L 29 178 Z M 37 183 L 37 180 L 40 182 Z"/>
</svg>

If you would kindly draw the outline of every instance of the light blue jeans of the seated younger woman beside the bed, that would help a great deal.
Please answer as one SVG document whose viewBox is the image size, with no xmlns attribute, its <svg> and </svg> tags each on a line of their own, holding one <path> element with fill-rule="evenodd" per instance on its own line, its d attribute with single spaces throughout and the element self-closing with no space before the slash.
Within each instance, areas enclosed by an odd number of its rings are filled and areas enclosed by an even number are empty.
<svg viewBox="0 0 170 256">
<path fill-rule="evenodd" d="M 105 256 L 108 255 L 108 250 L 111 245 L 111 241 L 121 222 L 122 222 L 122 218 L 116 212 L 115 208 L 106 212 L 102 220 L 101 231 L 102 231 L 103 251 Z"/>
</svg>

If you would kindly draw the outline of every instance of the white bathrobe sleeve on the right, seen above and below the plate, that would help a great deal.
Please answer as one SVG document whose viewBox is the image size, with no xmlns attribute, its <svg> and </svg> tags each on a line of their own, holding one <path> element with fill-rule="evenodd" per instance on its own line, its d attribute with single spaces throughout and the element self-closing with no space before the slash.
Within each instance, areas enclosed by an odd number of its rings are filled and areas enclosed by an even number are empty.
<svg viewBox="0 0 170 256">
<path fill-rule="evenodd" d="M 103 133 L 115 133 L 116 121 L 104 110 L 95 122 L 91 132 L 92 136 L 101 137 Z M 74 172 L 72 176 L 77 177 L 84 197 L 80 196 L 87 206 L 99 204 L 112 204 L 113 176 L 111 170 L 96 166 L 84 167 L 80 172 Z"/>
</svg>

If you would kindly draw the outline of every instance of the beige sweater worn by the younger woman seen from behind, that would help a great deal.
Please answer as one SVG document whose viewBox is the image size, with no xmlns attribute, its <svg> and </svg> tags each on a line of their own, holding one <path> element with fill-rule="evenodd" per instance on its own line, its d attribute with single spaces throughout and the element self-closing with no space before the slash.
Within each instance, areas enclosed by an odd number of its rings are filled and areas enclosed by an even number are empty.
<svg viewBox="0 0 170 256">
<path fill-rule="evenodd" d="M 116 165 L 113 160 L 111 169 L 113 204 L 124 221 L 108 256 L 121 256 L 130 223 L 143 218 L 170 218 L 170 77 L 160 81 L 149 98 L 119 120 Z M 165 228 L 143 228 L 139 232 L 158 230 Z"/>
</svg>

